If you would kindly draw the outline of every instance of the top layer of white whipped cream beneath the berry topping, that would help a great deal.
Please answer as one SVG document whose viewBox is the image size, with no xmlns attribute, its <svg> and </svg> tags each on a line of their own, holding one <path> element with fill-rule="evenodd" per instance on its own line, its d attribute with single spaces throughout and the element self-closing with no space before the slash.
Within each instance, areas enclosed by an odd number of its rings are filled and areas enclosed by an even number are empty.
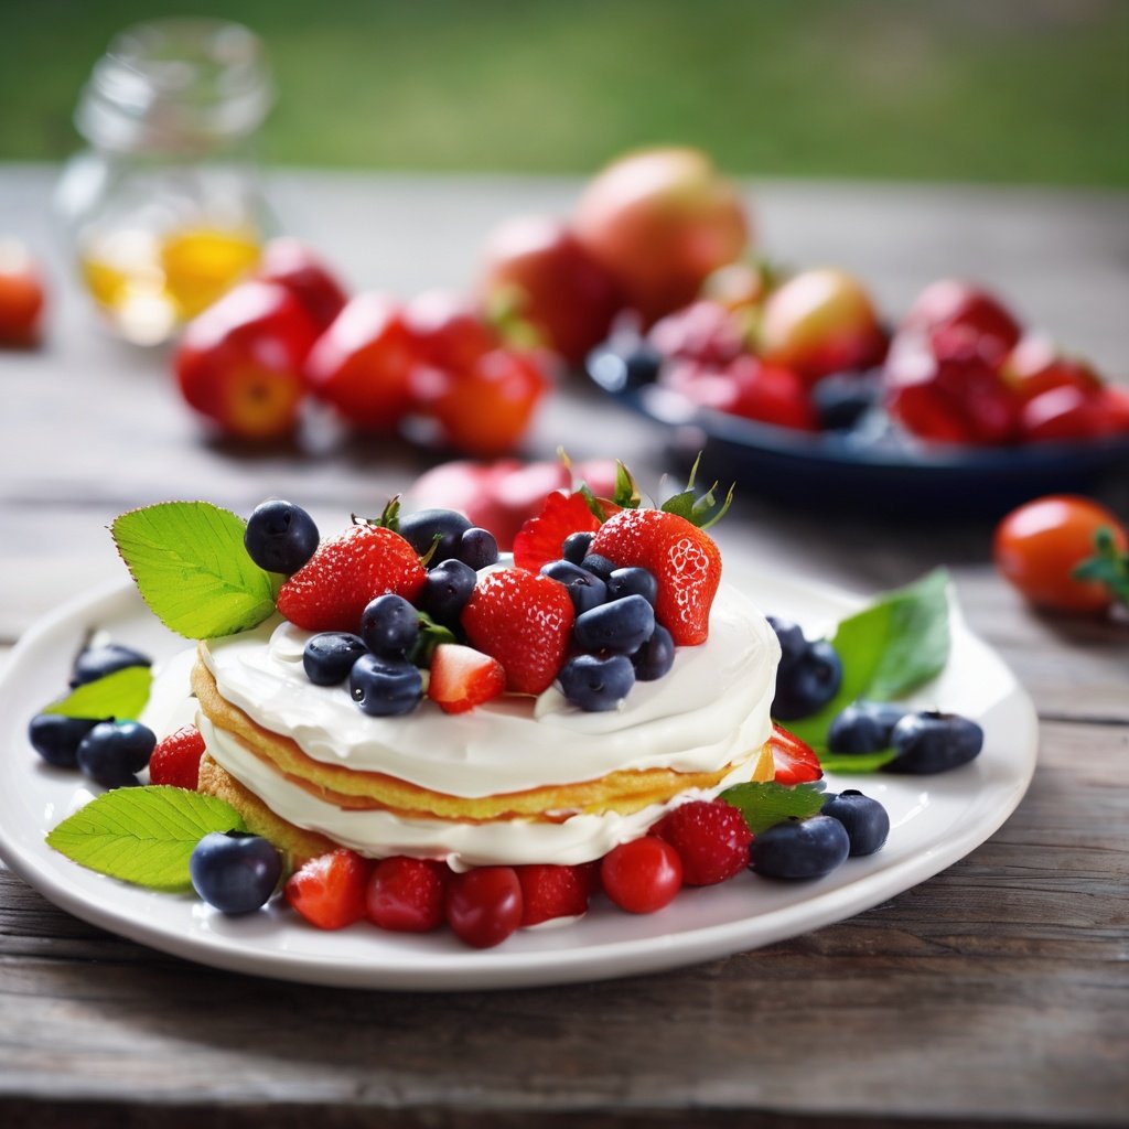
<svg viewBox="0 0 1129 1129">
<path fill-rule="evenodd" d="M 203 659 L 225 699 L 291 737 L 313 760 L 385 772 L 449 795 L 577 784 L 618 770 L 717 771 L 755 758 L 771 734 L 779 644 L 756 609 L 727 587 L 714 602 L 704 644 L 680 647 L 665 677 L 637 683 L 620 709 L 599 714 L 579 710 L 550 689 L 537 699 L 507 694 L 466 714 L 444 714 L 425 700 L 402 717 L 369 717 L 347 685 L 317 686 L 306 677 L 301 656 L 309 638 L 274 618 L 208 641 Z M 216 760 L 290 817 L 279 806 L 281 779 L 270 773 L 252 781 L 244 763 L 250 754 L 237 755 L 234 744 L 219 738 Z M 318 830 L 347 841 L 335 830 Z"/>
</svg>

